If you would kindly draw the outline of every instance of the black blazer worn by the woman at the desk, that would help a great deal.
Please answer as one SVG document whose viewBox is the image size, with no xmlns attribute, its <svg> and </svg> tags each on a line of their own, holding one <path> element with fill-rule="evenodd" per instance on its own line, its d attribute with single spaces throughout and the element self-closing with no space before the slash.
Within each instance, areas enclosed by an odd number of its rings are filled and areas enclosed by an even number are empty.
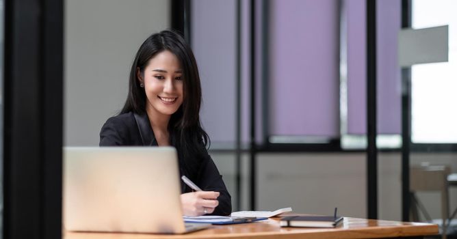
<svg viewBox="0 0 457 239">
<path fill-rule="evenodd" d="M 157 146 L 157 141 L 154 137 L 151 123 L 148 115 L 138 115 L 132 112 L 123 113 L 107 119 L 100 131 L 100 146 Z M 189 172 L 190 169 L 185 169 L 181 160 L 179 160 L 179 171 Z M 204 191 L 217 191 L 220 193 L 218 197 L 219 206 L 216 207 L 212 214 L 228 215 L 232 211 L 231 196 L 222 180 L 218 168 L 213 162 L 209 154 L 200 161 L 201 165 L 196 167 L 198 171 L 190 172 L 195 175 L 191 178 Z M 188 175 L 187 175 L 188 176 Z M 181 192 L 192 192 L 192 188 L 181 182 Z"/>
</svg>

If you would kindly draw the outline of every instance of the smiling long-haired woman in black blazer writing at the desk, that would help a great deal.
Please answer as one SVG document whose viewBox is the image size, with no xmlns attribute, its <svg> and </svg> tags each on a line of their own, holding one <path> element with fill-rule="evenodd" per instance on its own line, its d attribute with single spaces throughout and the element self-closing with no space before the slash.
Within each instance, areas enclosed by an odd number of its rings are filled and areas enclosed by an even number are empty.
<svg viewBox="0 0 457 239">
<path fill-rule="evenodd" d="M 209 137 L 200 125 L 201 98 L 190 46 L 174 31 L 155 33 L 138 49 L 127 101 L 101 128 L 100 146 L 176 147 L 181 175 L 203 189 L 192 192 L 181 182 L 183 214 L 228 215 L 231 197 L 207 152 Z"/>
</svg>

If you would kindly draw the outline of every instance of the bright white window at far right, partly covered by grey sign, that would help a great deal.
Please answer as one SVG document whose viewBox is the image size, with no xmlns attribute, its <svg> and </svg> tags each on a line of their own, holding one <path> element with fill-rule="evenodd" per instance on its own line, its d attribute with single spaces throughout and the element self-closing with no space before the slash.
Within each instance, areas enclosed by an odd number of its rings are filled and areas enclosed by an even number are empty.
<svg viewBox="0 0 457 239">
<path fill-rule="evenodd" d="M 413 1 L 413 28 L 449 25 L 449 62 L 411 68 L 411 140 L 457 143 L 457 2 Z"/>
</svg>

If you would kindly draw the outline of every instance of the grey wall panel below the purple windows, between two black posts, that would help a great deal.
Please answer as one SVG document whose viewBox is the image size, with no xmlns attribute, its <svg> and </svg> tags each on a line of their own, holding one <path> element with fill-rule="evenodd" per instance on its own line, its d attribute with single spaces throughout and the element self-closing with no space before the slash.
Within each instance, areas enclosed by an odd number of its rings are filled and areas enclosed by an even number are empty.
<svg viewBox="0 0 457 239">
<path fill-rule="evenodd" d="M 259 209 L 365 216 L 365 161 L 360 154 L 262 154 Z"/>
</svg>

